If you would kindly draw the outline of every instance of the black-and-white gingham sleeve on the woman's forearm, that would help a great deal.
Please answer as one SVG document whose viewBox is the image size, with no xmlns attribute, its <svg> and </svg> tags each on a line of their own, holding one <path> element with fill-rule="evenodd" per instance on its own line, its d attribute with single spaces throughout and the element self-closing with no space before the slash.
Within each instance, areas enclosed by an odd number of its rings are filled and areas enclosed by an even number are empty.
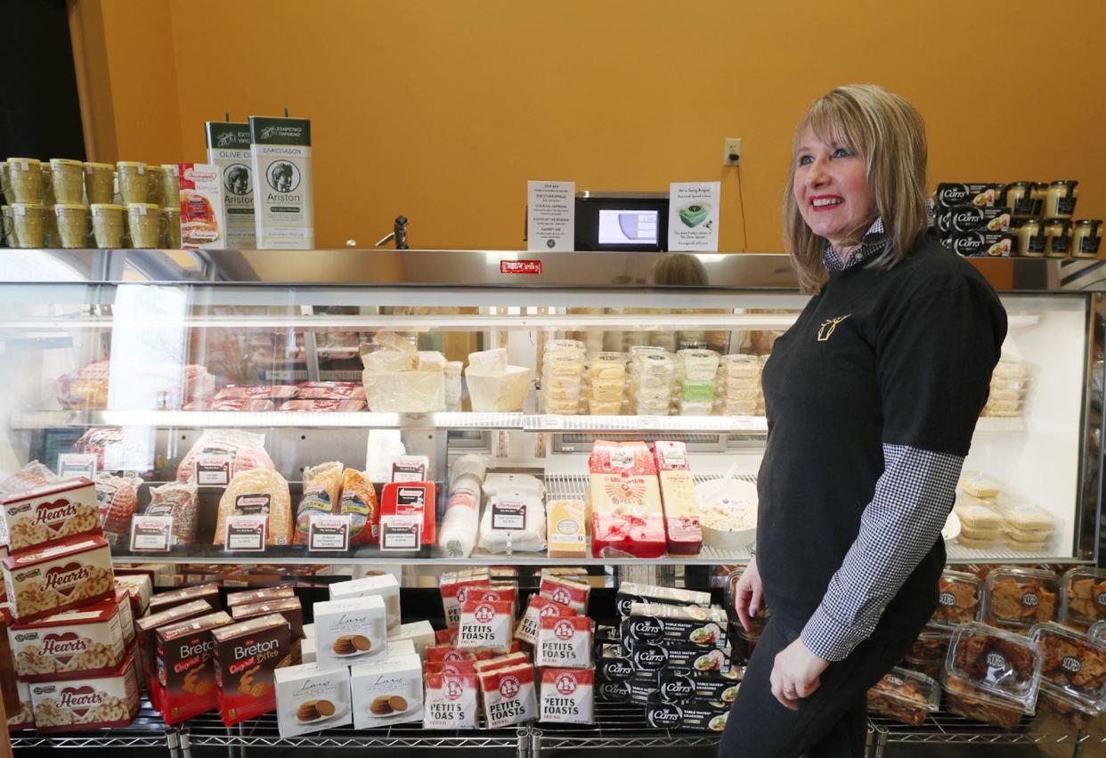
<svg viewBox="0 0 1106 758">
<path fill-rule="evenodd" d="M 941 538 L 963 458 L 884 445 L 884 473 L 860 531 L 802 640 L 818 657 L 841 661 L 876 629 L 884 609 Z"/>
</svg>

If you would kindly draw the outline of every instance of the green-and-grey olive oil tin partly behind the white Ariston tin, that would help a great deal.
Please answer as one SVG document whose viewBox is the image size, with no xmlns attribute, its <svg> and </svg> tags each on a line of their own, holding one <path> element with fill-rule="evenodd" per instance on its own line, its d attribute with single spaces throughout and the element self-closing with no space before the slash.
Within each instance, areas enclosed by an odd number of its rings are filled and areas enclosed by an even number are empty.
<svg viewBox="0 0 1106 758">
<path fill-rule="evenodd" d="M 209 121 L 206 126 L 208 163 L 218 166 L 222 174 L 227 247 L 233 250 L 252 250 L 257 247 L 257 226 L 253 220 L 250 125 Z"/>
</svg>

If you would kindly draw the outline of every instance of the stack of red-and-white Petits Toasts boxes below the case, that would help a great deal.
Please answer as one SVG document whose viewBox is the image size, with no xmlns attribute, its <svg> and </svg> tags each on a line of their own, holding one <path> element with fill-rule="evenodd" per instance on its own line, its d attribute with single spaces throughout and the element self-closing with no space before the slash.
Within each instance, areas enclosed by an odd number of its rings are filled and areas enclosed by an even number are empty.
<svg viewBox="0 0 1106 758">
<path fill-rule="evenodd" d="M 591 586 L 545 569 L 515 622 L 518 585 L 487 569 L 442 574 L 447 629 L 427 648 L 428 729 L 594 723 Z"/>
</svg>

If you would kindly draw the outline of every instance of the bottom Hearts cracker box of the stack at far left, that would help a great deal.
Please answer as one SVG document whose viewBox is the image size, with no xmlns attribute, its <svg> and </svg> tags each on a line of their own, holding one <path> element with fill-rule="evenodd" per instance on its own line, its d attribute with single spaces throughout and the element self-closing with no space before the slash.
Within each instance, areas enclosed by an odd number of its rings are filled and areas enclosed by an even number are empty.
<svg viewBox="0 0 1106 758">
<path fill-rule="evenodd" d="M 30 688 L 34 724 L 42 734 L 123 727 L 138 714 L 133 656 L 106 676 L 39 682 Z"/>
</svg>

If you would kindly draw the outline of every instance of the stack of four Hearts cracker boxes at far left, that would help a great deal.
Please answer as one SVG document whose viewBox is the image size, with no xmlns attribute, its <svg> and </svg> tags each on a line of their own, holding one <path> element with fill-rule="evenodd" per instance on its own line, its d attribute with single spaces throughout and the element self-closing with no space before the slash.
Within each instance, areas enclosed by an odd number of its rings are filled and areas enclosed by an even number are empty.
<svg viewBox="0 0 1106 758">
<path fill-rule="evenodd" d="M 77 478 L 6 494 L 0 542 L 0 613 L 22 706 L 10 728 L 128 725 L 138 713 L 133 608 L 115 586 L 95 485 Z"/>
</svg>

